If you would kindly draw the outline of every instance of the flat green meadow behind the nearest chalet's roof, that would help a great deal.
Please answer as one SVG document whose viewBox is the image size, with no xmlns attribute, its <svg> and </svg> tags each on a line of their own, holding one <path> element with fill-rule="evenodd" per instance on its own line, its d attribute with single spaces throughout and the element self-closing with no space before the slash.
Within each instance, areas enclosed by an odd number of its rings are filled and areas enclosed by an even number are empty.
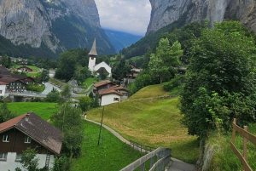
<svg viewBox="0 0 256 171">
<path fill-rule="evenodd" d="M 8 108 L 18 115 L 25 114 L 28 111 L 33 111 L 44 120 L 48 120 L 56 111 L 60 110 L 60 106 L 56 103 L 43 102 L 17 102 L 9 103 Z"/>
</svg>

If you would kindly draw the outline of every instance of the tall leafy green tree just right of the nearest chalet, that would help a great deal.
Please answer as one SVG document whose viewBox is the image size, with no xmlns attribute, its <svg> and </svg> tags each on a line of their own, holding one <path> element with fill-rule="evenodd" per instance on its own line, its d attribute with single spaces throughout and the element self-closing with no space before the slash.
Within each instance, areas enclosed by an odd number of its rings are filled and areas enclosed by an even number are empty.
<svg viewBox="0 0 256 171">
<path fill-rule="evenodd" d="M 61 111 L 51 117 L 55 127 L 60 128 L 64 134 L 61 153 L 66 157 L 81 155 L 81 144 L 84 140 L 81 114 L 79 108 L 65 103 Z"/>
</svg>

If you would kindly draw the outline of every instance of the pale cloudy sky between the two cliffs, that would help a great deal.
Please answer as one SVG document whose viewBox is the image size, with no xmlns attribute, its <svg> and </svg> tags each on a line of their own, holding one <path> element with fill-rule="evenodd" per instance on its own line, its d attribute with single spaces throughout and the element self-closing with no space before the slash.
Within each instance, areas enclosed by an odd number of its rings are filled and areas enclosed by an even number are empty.
<svg viewBox="0 0 256 171">
<path fill-rule="evenodd" d="M 145 36 L 151 4 L 149 0 L 95 0 L 103 29 Z"/>
</svg>

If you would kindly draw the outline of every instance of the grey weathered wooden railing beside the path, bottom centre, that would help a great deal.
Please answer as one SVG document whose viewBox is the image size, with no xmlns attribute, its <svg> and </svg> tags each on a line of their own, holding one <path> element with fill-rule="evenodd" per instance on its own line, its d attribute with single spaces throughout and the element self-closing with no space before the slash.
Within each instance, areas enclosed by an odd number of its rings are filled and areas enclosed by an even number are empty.
<svg viewBox="0 0 256 171">
<path fill-rule="evenodd" d="M 157 162 L 154 163 L 154 158 L 156 157 Z M 150 159 L 150 169 L 148 171 L 154 171 L 157 169 L 158 171 L 165 170 L 166 165 L 171 160 L 171 149 L 159 147 L 155 151 L 148 153 L 147 155 L 137 159 L 137 161 L 132 162 L 125 168 L 120 171 L 133 171 L 134 169 L 140 167 L 141 171 L 145 169 L 145 162 Z"/>
</svg>

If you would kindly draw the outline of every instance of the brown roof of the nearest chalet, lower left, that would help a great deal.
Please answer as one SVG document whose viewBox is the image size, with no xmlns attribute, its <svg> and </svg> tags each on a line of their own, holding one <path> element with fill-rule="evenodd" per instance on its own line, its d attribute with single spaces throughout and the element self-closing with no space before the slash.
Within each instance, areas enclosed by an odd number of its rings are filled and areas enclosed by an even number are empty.
<svg viewBox="0 0 256 171">
<path fill-rule="evenodd" d="M 26 121 L 26 115 L 29 115 L 28 121 Z M 56 155 L 60 155 L 62 145 L 61 130 L 44 121 L 44 119 L 38 117 L 38 115 L 32 111 L 29 111 L 19 117 L 10 119 L 5 123 L 1 123 L 0 134 L 9 130 L 10 128 L 19 129 L 20 132 L 30 136 L 32 140 L 37 141 L 49 151 L 52 151 Z"/>
</svg>

